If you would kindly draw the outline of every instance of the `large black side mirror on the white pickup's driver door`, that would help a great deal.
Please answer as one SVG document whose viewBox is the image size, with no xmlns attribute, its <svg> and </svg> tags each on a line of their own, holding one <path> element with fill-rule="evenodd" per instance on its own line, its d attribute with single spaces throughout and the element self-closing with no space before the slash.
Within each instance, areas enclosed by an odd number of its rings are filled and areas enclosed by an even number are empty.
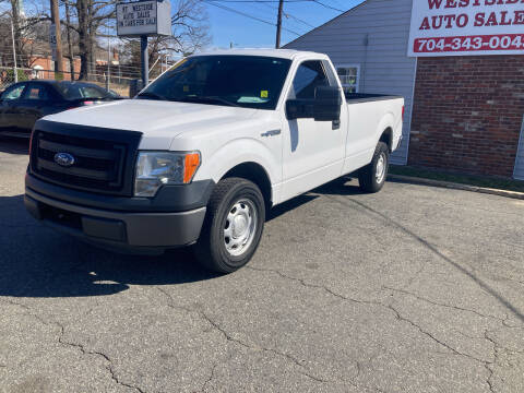
<svg viewBox="0 0 524 393">
<path fill-rule="evenodd" d="M 342 95 L 336 86 L 319 86 L 313 99 L 288 99 L 286 102 L 287 120 L 314 119 L 315 121 L 336 121 L 341 119 Z"/>
</svg>

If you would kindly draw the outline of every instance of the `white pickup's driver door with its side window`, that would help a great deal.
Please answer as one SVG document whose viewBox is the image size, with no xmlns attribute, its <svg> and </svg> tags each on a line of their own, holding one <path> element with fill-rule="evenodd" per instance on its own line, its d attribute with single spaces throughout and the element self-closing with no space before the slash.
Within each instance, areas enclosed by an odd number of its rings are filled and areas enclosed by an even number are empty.
<svg viewBox="0 0 524 393">
<path fill-rule="evenodd" d="M 314 99 L 317 87 L 333 85 L 324 67 L 321 60 L 302 62 L 295 74 L 288 99 Z M 337 127 L 336 122 L 312 118 L 285 119 L 284 123 L 282 201 L 341 176 L 346 126 L 345 121 Z"/>
</svg>

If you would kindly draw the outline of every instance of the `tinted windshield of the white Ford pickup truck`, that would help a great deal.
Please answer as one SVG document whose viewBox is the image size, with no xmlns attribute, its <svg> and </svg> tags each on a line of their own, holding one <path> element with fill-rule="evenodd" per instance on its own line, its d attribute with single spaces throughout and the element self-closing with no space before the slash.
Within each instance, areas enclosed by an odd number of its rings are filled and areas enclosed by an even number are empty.
<svg viewBox="0 0 524 393">
<path fill-rule="evenodd" d="M 290 60 L 260 56 L 190 57 L 138 98 L 275 109 L 290 64 Z"/>
</svg>

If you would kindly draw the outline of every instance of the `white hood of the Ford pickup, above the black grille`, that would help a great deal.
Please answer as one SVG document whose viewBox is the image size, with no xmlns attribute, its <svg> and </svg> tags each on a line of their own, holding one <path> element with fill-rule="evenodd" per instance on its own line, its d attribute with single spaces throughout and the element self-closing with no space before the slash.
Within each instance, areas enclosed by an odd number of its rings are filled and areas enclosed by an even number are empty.
<svg viewBox="0 0 524 393">
<path fill-rule="evenodd" d="M 143 134 L 141 148 L 166 150 L 183 131 L 248 120 L 257 109 L 217 105 L 126 99 L 47 116 L 45 120 Z"/>
</svg>

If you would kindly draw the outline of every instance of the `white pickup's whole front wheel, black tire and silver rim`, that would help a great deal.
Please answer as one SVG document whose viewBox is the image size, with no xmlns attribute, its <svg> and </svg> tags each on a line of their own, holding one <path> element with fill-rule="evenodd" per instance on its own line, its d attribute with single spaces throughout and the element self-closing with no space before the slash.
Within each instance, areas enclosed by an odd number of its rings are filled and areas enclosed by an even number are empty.
<svg viewBox="0 0 524 393">
<path fill-rule="evenodd" d="M 206 269 L 231 273 L 246 265 L 259 247 L 265 222 L 260 189 L 242 178 L 221 180 L 207 204 L 194 252 Z"/>
</svg>

